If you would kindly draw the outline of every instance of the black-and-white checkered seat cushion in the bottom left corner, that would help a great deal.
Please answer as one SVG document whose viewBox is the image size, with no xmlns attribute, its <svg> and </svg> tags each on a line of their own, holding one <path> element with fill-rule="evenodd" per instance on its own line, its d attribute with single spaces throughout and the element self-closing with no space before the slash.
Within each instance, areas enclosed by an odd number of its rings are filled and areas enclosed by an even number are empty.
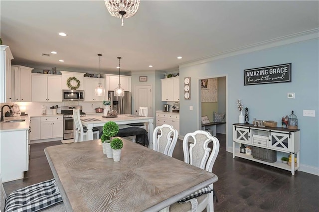
<svg viewBox="0 0 319 212">
<path fill-rule="evenodd" d="M 37 212 L 62 202 L 55 180 L 47 180 L 9 194 L 5 212 Z"/>
</svg>

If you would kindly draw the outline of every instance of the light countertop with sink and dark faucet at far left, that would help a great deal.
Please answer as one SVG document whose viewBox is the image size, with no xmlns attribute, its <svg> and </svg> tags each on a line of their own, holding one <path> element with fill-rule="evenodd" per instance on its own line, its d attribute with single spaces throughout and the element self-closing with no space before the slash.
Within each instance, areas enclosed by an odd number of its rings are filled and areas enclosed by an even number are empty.
<svg viewBox="0 0 319 212">
<path fill-rule="evenodd" d="M 25 121 L 5 122 L 8 120 L 19 120 L 19 119 L 25 119 Z M 4 121 L 0 122 L 0 132 L 28 130 L 29 125 L 30 125 L 30 117 L 27 115 L 4 117 Z"/>
</svg>

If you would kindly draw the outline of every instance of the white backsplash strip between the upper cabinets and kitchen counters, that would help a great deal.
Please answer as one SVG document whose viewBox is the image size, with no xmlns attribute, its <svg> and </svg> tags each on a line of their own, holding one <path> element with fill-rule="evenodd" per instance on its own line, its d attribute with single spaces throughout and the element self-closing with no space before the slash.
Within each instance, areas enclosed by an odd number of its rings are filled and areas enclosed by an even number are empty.
<svg viewBox="0 0 319 212">
<path fill-rule="evenodd" d="M 18 106 L 25 106 L 25 113 L 27 113 L 29 116 L 35 116 L 35 115 L 40 115 L 41 114 L 41 107 L 46 106 L 46 114 L 50 115 L 52 114 L 52 110 L 50 109 L 51 106 L 58 106 L 57 113 L 61 113 L 61 106 L 65 105 L 80 105 L 82 106 L 82 111 L 86 113 L 92 113 L 95 112 L 96 107 L 103 107 L 102 102 L 50 102 L 50 103 L 31 103 L 31 102 L 15 102 L 15 103 L 1 103 L 0 106 L 3 105 L 9 105 L 11 106 L 12 104 L 17 104 Z M 3 111 L 6 112 L 9 109 L 7 107 L 3 108 Z M 4 114 L 3 112 L 3 114 Z"/>
</svg>

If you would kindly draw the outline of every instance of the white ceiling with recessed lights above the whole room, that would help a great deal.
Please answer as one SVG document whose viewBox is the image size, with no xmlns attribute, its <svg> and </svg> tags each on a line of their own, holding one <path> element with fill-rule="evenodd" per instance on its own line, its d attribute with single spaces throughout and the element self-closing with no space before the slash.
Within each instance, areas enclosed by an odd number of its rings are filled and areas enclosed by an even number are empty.
<svg viewBox="0 0 319 212">
<path fill-rule="evenodd" d="M 123 27 L 103 0 L 1 0 L 0 9 L 2 45 L 10 47 L 13 64 L 98 71 L 101 53 L 104 73 L 117 71 L 119 56 L 121 71 L 173 70 L 207 56 L 319 28 L 317 0 L 142 0 Z M 68 36 L 59 36 L 61 31 Z M 42 56 L 51 51 L 58 54 Z"/>
</svg>

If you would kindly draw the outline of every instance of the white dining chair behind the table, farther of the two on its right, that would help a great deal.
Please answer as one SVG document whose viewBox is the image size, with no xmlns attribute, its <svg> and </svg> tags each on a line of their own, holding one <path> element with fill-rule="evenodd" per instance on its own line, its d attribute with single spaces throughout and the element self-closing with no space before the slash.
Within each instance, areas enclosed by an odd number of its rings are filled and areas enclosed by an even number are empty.
<svg viewBox="0 0 319 212">
<path fill-rule="evenodd" d="M 153 132 L 153 150 L 172 156 L 178 139 L 178 132 L 173 126 L 163 124 L 157 126 Z"/>
</svg>

